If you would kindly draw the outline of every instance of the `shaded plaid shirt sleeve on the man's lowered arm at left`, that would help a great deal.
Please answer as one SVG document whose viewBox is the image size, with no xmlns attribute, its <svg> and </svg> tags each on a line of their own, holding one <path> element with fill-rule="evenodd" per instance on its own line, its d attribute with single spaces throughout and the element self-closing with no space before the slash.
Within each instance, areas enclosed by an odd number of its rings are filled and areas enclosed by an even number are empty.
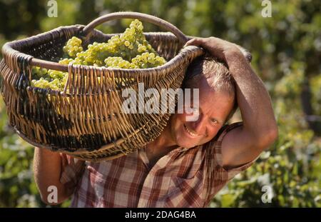
<svg viewBox="0 0 321 222">
<path fill-rule="evenodd" d="M 60 182 L 63 183 L 69 190 L 73 190 L 76 188 L 79 178 L 81 178 L 85 168 L 85 162 L 76 161 L 76 163 L 71 163 L 71 161 L 73 161 L 72 157 L 68 155 L 66 156 L 68 165 L 63 167 Z"/>
</svg>

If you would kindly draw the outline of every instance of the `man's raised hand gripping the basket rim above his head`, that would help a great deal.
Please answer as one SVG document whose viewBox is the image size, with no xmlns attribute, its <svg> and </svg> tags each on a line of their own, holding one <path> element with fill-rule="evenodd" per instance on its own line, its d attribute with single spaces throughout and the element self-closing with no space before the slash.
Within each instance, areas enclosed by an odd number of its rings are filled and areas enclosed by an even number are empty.
<svg viewBox="0 0 321 222">
<path fill-rule="evenodd" d="M 230 53 L 243 54 L 248 62 L 252 60 L 250 52 L 243 47 L 215 37 L 190 39 L 190 41 L 186 42 L 185 46 L 200 46 L 206 49 L 213 57 L 225 63 L 227 63 L 226 56 Z"/>
</svg>

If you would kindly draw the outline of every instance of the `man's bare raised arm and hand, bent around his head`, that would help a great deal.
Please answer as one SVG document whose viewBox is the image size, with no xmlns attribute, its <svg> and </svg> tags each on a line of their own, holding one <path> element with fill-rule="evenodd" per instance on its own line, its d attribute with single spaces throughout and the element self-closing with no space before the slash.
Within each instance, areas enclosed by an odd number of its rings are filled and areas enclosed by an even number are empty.
<svg viewBox="0 0 321 222">
<path fill-rule="evenodd" d="M 250 54 L 215 37 L 191 39 L 185 46 L 190 45 L 201 46 L 211 56 L 224 61 L 235 79 L 243 126 L 229 131 L 223 138 L 223 167 L 234 168 L 253 161 L 277 138 L 277 123 L 263 81 L 248 64 Z"/>
</svg>

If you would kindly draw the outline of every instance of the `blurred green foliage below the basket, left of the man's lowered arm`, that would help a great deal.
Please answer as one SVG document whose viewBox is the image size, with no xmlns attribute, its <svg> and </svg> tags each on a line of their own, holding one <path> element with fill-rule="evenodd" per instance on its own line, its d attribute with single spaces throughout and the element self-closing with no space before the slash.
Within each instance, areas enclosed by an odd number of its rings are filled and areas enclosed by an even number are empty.
<svg viewBox="0 0 321 222">
<path fill-rule="evenodd" d="M 2 99 L 0 102 L 0 207 L 39 206 L 31 164 L 34 149 L 7 128 Z"/>
</svg>

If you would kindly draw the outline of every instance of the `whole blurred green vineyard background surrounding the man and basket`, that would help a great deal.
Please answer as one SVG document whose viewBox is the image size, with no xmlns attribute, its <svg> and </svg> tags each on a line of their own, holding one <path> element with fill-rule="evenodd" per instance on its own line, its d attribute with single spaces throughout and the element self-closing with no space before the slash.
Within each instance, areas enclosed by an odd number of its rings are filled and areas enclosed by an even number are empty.
<svg viewBox="0 0 321 222">
<path fill-rule="evenodd" d="M 238 175 L 213 199 L 211 207 L 321 206 L 321 2 L 239 0 L 64 0 L 49 17 L 49 1 L 0 0 L 0 46 L 58 26 L 88 24 L 115 11 L 152 14 L 186 35 L 233 41 L 253 55 L 253 69 L 265 82 L 279 126 L 278 140 L 248 171 Z M 265 1 L 266 2 L 266 1 Z M 128 20 L 97 29 L 123 32 Z M 143 23 L 145 31 L 162 31 Z M 238 121 L 237 113 L 233 120 Z M 0 207 L 44 207 L 32 172 L 34 148 L 6 122 L 0 99 Z M 263 186 L 272 188 L 266 201 Z M 267 202 L 267 203 L 264 203 Z M 68 201 L 61 205 L 68 206 Z M 58 206 L 59 207 L 59 206 Z"/>
</svg>

